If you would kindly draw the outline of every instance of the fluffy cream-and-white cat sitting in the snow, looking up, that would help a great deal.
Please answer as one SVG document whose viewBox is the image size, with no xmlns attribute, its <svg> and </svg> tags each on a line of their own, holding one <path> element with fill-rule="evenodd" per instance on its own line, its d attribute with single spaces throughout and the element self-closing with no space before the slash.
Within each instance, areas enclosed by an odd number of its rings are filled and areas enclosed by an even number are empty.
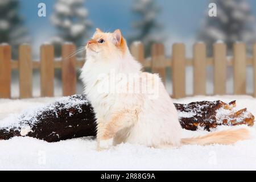
<svg viewBox="0 0 256 182">
<path fill-rule="evenodd" d="M 232 144 L 249 137 L 247 129 L 230 129 L 182 138 L 177 110 L 163 82 L 158 75 L 142 72 L 141 68 L 119 29 L 102 32 L 97 28 L 86 44 L 81 79 L 84 94 L 96 114 L 98 150 L 101 142 L 109 139 L 113 139 L 114 146 L 128 142 L 168 148 L 181 144 Z M 122 92 L 116 92 L 117 86 Z"/>
</svg>

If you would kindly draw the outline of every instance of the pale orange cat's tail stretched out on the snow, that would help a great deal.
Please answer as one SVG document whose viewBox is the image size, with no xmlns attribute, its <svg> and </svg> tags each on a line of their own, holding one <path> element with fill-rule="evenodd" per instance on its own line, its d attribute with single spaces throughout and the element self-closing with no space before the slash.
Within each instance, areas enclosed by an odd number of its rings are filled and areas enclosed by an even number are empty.
<svg viewBox="0 0 256 182">
<path fill-rule="evenodd" d="M 230 129 L 224 131 L 216 131 L 208 135 L 183 138 L 181 139 L 182 144 L 197 144 L 205 146 L 208 144 L 233 144 L 239 140 L 245 140 L 250 138 L 250 131 L 245 128 L 241 129 Z"/>
</svg>

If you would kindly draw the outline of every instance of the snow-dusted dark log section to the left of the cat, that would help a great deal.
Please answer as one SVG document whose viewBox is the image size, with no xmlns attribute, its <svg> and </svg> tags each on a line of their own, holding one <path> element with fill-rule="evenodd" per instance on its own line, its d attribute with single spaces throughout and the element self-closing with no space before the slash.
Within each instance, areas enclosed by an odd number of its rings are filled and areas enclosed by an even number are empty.
<svg viewBox="0 0 256 182">
<path fill-rule="evenodd" d="M 10 119 L 7 121 L 7 119 Z M 34 137 L 47 142 L 96 135 L 92 106 L 83 95 L 64 97 L 53 104 L 24 111 L 0 123 L 0 139 Z"/>
</svg>

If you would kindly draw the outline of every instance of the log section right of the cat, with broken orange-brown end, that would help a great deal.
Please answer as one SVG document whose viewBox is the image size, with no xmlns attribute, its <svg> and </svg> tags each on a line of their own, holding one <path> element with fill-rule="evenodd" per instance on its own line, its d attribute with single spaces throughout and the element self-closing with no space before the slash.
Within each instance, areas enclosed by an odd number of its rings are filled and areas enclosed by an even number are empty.
<svg viewBox="0 0 256 182">
<path fill-rule="evenodd" d="M 247 109 L 235 110 L 236 101 L 226 104 L 222 101 L 201 101 L 189 104 L 174 104 L 178 113 L 179 121 L 184 129 L 195 131 L 199 127 L 210 131 L 219 125 L 253 126 L 254 115 Z"/>
</svg>

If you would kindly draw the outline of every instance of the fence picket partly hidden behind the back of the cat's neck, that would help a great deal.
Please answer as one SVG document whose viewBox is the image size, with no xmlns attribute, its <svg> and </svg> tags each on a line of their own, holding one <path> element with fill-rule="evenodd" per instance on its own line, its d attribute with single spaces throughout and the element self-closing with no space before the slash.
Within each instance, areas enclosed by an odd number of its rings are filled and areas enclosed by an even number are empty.
<svg viewBox="0 0 256 182">
<path fill-rule="evenodd" d="M 143 68 L 144 69 L 144 46 L 143 46 L 143 43 L 142 42 L 133 42 L 131 44 L 131 55 L 133 55 L 133 57 L 139 61 L 139 63 L 142 64 Z"/>
</svg>

